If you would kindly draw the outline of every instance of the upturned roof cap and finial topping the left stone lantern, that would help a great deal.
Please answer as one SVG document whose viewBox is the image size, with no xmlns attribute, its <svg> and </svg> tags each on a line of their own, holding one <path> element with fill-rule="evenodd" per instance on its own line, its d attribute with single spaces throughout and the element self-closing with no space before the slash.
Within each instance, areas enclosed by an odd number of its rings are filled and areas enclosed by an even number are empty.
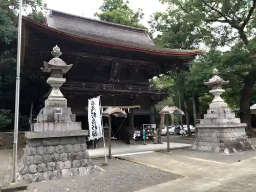
<svg viewBox="0 0 256 192">
<path fill-rule="evenodd" d="M 57 45 L 52 49 L 51 54 L 53 58 L 49 62 L 44 61 L 44 67 L 41 68 L 43 72 L 50 73 L 52 69 L 59 69 L 62 70 L 63 74 L 65 74 L 73 66 L 73 64 L 67 65 L 65 61 L 59 58 L 59 56 L 62 55 L 62 52 Z"/>
</svg>

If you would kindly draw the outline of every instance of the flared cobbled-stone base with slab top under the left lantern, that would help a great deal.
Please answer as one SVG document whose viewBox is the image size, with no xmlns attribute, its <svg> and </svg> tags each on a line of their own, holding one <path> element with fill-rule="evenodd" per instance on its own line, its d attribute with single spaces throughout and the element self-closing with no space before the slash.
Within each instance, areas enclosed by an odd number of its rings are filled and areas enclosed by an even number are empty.
<svg viewBox="0 0 256 192">
<path fill-rule="evenodd" d="M 88 154 L 87 135 L 88 131 L 26 132 L 19 179 L 31 183 L 99 171 Z"/>
</svg>

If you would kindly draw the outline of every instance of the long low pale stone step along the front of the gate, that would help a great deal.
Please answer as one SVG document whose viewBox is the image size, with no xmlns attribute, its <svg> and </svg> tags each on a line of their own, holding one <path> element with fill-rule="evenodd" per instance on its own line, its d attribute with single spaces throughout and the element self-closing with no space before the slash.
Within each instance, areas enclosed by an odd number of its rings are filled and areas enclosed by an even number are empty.
<svg viewBox="0 0 256 192">
<path fill-rule="evenodd" d="M 174 150 L 177 148 L 186 148 L 191 146 L 191 144 L 184 143 L 170 143 L 170 149 Z M 138 152 L 147 152 L 147 151 L 163 151 L 167 149 L 167 142 L 162 144 L 147 144 L 147 145 L 123 145 L 123 146 L 114 146 L 111 148 L 112 155 L 126 154 L 126 153 L 138 153 Z M 106 154 L 109 154 L 109 148 L 106 148 Z M 94 150 L 88 150 L 91 158 L 104 157 L 104 148 L 97 148 Z"/>
</svg>

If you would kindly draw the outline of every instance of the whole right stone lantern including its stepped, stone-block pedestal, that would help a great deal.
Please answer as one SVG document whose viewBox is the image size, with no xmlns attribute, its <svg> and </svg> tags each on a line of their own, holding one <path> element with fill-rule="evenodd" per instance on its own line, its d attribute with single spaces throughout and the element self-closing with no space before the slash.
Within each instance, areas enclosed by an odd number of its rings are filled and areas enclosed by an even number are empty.
<svg viewBox="0 0 256 192">
<path fill-rule="evenodd" d="M 241 123 L 240 118 L 231 112 L 227 103 L 221 98 L 225 91 L 223 84 L 229 81 L 218 76 L 218 70 L 212 71 L 212 78 L 204 84 L 211 87 L 209 91 L 214 99 L 209 104 L 207 114 L 197 124 L 197 137 L 192 145 L 192 150 L 207 152 L 223 152 L 226 154 L 237 151 L 255 150 L 246 136 L 246 123 Z"/>
</svg>

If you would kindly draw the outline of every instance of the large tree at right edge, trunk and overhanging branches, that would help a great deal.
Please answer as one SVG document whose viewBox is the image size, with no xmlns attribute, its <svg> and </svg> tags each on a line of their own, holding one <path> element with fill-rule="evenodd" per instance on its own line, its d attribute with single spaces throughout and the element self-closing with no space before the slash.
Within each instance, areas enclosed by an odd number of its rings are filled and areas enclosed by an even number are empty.
<svg viewBox="0 0 256 192">
<path fill-rule="evenodd" d="M 247 133 L 251 133 L 250 101 L 256 81 L 256 76 L 254 75 L 256 72 L 256 48 L 254 46 L 255 40 L 250 40 L 249 37 L 255 36 L 256 0 L 162 0 L 162 2 L 168 3 L 170 6 L 176 6 L 189 14 L 194 20 L 203 22 L 211 30 L 212 36 L 215 37 L 208 39 L 208 42 L 206 41 L 206 44 L 212 48 L 224 45 L 232 46 L 234 43 L 237 43 L 235 47 L 240 47 L 241 52 L 233 48 L 226 56 L 233 55 L 240 59 L 234 53 L 240 56 L 245 54 L 242 56 L 243 59 L 239 61 L 239 70 L 234 70 L 233 73 L 242 79 L 239 104 L 240 117 L 241 122 L 248 125 Z"/>
</svg>

